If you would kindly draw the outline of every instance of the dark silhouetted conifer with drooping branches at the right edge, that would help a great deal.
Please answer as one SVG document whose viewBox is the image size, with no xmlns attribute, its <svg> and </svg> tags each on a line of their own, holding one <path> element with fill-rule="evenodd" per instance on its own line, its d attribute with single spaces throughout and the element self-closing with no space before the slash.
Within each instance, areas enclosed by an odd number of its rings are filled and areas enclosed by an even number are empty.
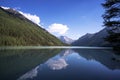
<svg viewBox="0 0 120 80">
<path fill-rule="evenodd" d="M 120 0 L 105 0 L 102 6 L 105 9 L 102 15 L 104 26 L 109 33 L 106 40 L 115 49 L 120 50 Z"/>
</svg>

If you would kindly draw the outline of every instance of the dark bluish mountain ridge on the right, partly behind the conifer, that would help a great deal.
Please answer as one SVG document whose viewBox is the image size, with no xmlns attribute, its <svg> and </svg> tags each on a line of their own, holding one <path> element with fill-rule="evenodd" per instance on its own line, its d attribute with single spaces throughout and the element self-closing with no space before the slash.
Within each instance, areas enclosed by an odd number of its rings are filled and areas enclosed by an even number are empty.
<svg viewBox="0 0 120 80">
<path fill-rule="evenodd" d="M 107 29 L 104 28 L 94 34 L 86 34 L 72 43 L 73 46 L 111 46 L 105 38 L 108 36 Z"/>
</svg>

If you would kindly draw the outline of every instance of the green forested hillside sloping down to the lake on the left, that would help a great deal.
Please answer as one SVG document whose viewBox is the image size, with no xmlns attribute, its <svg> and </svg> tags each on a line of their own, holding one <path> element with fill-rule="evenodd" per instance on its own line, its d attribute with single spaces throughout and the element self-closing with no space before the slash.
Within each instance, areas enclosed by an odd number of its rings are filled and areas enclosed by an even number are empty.
<svg viewBox="0 0 120 80">
<path fill-rule="evenodd" d="M 61 46 L 60 40 L 15 10 L 0 8 L 0 46 Z"/>
</svg>

